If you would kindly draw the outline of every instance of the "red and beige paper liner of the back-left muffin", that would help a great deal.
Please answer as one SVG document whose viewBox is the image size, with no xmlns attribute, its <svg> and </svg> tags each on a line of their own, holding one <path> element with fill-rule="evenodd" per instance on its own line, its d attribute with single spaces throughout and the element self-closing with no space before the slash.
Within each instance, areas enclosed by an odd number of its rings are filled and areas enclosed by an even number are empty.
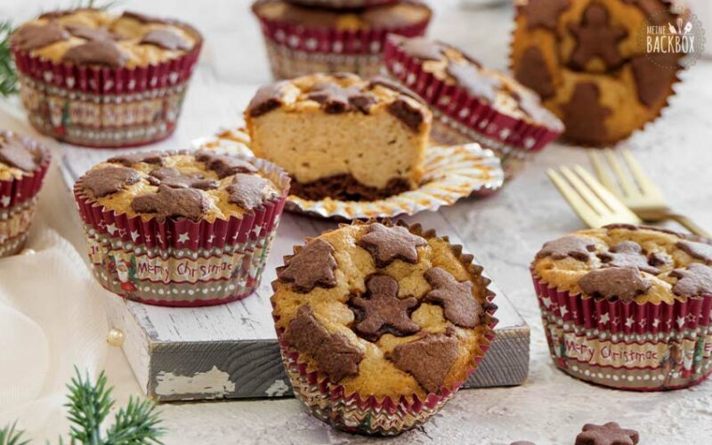
<svg viewBox="0 0 712 445">
<path fill-rule="evenodd" d="M 173 133 L 202 37 L 182 57 L 147 67 L 78 66 L 12 47 L 30 123 L 77 145 L 125 148 Z"/>
</svg>

